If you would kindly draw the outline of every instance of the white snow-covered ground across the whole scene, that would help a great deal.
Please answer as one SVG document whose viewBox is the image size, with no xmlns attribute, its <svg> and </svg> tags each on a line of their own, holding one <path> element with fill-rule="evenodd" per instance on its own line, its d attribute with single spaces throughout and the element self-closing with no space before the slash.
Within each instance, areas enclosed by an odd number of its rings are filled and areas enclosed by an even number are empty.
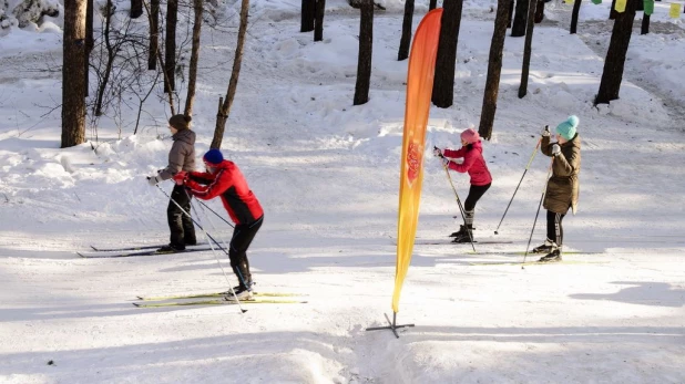
<svg viewBox="0 0 685 384">
<path fill-rule="evenodd" d="M 217 264 L 227 267 L 223 256 L 74 253 L 166 241 L 167 198 L 145 176 L 165 165 L 168 108 L 151 98 L 137 135 L 131 112 L 121 131 L 103 118 L 99 142 L 59 149 L 59 28 L 0 38 L 0 382 L 685 382 L 685 32 L 683 19 L 668 19 L 667 2 L 656 3 L 654 33 L 632 37 L 621 100 L 610 106 L 592 100 L 611 1 L 583 3 L 576 35 L 568 32 L 571 6 L 548 3 L 521 100 L 523 39 L 507 38 L 494 135 L 484 143 L 494 181 L 478 204 L 476 237 L 511 242 L 476 243 L 477 255 L 468 245 L 417 245 L 398 313 L 398 323 L 416 326 L 400 339 L 365 329 L 391 316 L 402 3 L 387 1 L 376 13 L 371 100 L 361 106 L 351 105 L 358 11 L 329 1 L 325 40 L 314 43 L 298 32 L 299 3 L 253 6 L 223 152 L 266 211 L 249 252 L 257 290 L 308 303 L 245 304 L 244 314 L 235 305 L 131 304 L 141 294 L 225 290 L 235 280 Z M 464 1 L 454 105 L 431 110 L 428 148 L 458 146 L 459 133 L 479 124 L 494 3 Z M 238 7 L 226 12 L 231 27 Z M 418 3 L 415 27 L 426 11 Z M 235 31 L 203 32 L 198 156 L 226 92 Z M 564 219 L 564 242 L 597 253 L 522 269 L 522 256 L 503 252 L 526 248 L 548 158 L 535 156 L 493 231 L 542 126 L 570 114 L 581 120 L 583 152 L 580 209 Z M 418 242 L 448 242 L 459 210 L 439 162 L 427 155 Z M 452 178 L 466 198 L 468 177 Z M 218 201 L 208 206 L 223 212 Z M 211 235 L 231 236 L 195 207 Z M 544 239 L 543 215 L 534 246 Z"/>
</svg>

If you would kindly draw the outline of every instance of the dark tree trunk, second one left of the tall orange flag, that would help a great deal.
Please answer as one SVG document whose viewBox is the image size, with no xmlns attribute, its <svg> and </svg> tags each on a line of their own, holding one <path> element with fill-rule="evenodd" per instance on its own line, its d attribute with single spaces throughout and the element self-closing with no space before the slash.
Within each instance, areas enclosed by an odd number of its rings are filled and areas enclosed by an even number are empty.
<svg viewBox="0 0 685 384">
<path fill-rule="evenodd" d="M 357 61 L 357 84 L 355 85 L 354 105 L 369 101 L 371 81 L 371 53 L 374 52 L 374 0 L 361 3 L 359 22 L 359 58 Z"/>
</svg>

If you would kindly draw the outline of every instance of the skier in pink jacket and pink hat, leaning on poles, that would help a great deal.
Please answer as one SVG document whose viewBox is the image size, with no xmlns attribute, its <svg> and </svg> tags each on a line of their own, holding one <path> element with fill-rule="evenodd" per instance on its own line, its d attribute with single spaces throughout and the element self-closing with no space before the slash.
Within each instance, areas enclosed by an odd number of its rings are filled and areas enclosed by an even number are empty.
<svg viewBox="0 0 685 384">
<path fill-rule="evenodd" d="M 471 188 L 469 196 L 463 204 L 466 222 L 459 230 L 450 235 L 452 242 L 470 242 L 473 239 L 473 215 L 476 203 L 485 194 L 492 184 L 492 176 L 488 170 L 488 165 L 483 158 L 483 145 L 480 135 L 472 128 L 461 133 L 462 147 L 458 151 L 436 147 L 433 155 L 442 157 L 443 166 L 459 173 L 469 173 L 471 176 Z M 449 158 L 448 158 L 449 157 Z M 450 160 L 450 158 L 463 158 L 461 164 Z"/>
</svg>

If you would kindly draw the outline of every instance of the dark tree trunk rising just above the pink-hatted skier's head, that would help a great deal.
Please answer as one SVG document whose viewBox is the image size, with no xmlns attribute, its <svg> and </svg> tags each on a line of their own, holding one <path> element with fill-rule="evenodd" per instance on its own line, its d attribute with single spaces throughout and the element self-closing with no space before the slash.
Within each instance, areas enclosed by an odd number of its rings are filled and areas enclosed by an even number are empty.
<svg viewBox="0 0 685 384">
<path fill-rule="evenodd" d="M 480 126 L 478 127 L 478 133 L 485 139 L 490 139 L 492 136 L 492 125 L 494 124 L 494 113 L 497 111 L 500 73 L 502 72 L 502 51 L 504 50 L 504 38 L 507 37 L 507 2 L 508 0 L 498 0 L 494 31 L 492 32 L 492 42 L 490 43 L 488 79 L 485 80 L 483 107 L 480 114 Z"/>
</svg>

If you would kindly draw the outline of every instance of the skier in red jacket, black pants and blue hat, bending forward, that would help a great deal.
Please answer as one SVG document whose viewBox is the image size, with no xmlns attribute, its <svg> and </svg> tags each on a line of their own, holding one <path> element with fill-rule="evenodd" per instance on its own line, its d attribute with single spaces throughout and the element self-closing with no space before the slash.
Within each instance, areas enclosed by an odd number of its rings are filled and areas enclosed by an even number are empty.
<svg viewBox="0 0 685 384">
<path fill-rule="evenodd" d="M 203 157 L 207 172 L 191 172 L 174 176 L 176 184 L 184 184 L 188 194 L 198 199 L 221 197 L 224 208 L 235 222 L 228 258 L 239 284 L 234 289 L 241 300 L 252 299 L 252 274 L 247 248 L 264 220 L 264 210 L 257 197 L 235 163 L 225 160 L 218 149 L 209 149 Z"/>
</svg>

